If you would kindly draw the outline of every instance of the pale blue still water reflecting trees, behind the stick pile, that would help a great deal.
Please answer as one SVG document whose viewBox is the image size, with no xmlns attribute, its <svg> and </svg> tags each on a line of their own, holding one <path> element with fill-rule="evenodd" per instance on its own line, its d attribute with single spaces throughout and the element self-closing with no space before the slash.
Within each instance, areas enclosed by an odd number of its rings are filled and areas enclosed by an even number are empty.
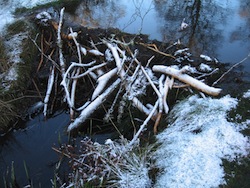
<svg viewBox="0 0 250 188">
<path fill-rule="evenodd" d="M 221 62 L 237 63 L 250 52 L 250 0 L 86 1 L 68 17 L 88 27 L 116 27 L 165 42 L 180 39 L 194 55 Z M 189 27 L 180 31 L 184 18 Z M 249 64 L 244 63 L 247 71 Z"/>
</svg>

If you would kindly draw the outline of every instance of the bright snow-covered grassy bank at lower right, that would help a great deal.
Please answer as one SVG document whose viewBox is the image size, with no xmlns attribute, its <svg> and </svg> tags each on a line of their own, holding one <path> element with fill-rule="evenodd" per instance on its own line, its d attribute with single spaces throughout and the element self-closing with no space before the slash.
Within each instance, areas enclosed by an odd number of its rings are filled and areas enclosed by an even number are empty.
<svg viewBox="0 0 250 188">
<path fill-rule="evenodd" d="M 218 187 L 225 184 L 222 159 L 248 155 L 249 139 L 243 125 L 227 121 L 237 100 L 192 96 L 172 110 L 169 127 L 157 135 L 155 152 L 161 172 L 155 187 Z"/>
</svg>

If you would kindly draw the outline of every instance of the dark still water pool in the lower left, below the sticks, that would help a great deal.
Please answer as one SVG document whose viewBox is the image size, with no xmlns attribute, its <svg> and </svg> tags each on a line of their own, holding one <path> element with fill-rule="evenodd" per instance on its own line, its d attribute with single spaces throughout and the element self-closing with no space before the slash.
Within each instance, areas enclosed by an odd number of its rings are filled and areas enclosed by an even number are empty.
<svg viewBox="0 0 250 188">
<path fill-rule="evenodd" d="M 14 161 L 18 184 L 24 186 L 29 183 L 24 168 L 25 162 L 35 187 L 39 183 L 42 187 L 51 185 L 50 179 L 53 179 L 55 163 L 59 159 L 52 146 L 58 147 L 60 139 L 67 142 L 64 129 L 68 123 L 69 116 L 64 112 L 56 113 L 46 121 L 43 114 L 40 114 L 25 123 L 25 129 L 16 130 L 3 138 L 4 142 L 0 143 L 0 183 L 5 176 L 3 173 L 6 173 L 6 169 L 10 171 Z"/>
</svg>

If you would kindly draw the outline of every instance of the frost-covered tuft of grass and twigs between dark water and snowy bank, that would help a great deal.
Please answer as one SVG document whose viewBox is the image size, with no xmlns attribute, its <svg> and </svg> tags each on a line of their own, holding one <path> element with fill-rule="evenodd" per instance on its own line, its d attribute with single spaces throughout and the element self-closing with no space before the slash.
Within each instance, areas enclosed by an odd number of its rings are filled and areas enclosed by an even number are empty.
<svg viewBox="0 0 250 188">
<path fill-rule="evenodd" d="M 83 187 L 89 183 L 110 188 L 151 187 L 148 175 L 150 148 L 144 151 L 139 146 L 128 148 L 124 138 L 116 142 L 108 139 L 105 145 L 85 138 L 78 148 L 65 145 L 61 151 L 71 159 L 71 187 Z"/>
</svg>

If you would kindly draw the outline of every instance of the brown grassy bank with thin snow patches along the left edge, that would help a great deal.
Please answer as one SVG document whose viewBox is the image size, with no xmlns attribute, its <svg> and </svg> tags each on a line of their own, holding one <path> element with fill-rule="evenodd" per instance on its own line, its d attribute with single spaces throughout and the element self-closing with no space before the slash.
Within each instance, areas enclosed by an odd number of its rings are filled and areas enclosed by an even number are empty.
<svg viewBox="0 0 250 188">
<path fill-rule="evenodd" d="M 37 49 L 30 37 L 36 31 L 31 23 L 18 20 L 7 27 L 0 42 L 0 131 L 9 129 L 20 111 L 23 112 L 26 101 L 25 90 L 31 84 Z"/>
</svg>

